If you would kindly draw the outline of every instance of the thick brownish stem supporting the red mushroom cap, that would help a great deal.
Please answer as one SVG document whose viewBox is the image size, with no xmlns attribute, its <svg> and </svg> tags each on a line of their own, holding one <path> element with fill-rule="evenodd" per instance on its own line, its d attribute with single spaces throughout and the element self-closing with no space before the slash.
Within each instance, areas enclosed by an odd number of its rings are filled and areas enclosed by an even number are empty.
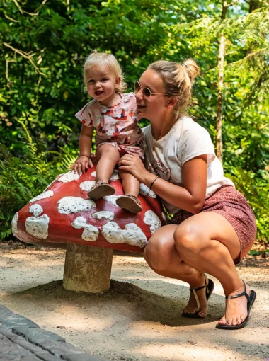
<svg viewBox="0 0 269 361">
<path fill-rule="evenodd" d="M 109 290 L 113 249 L 67 244 L 65 290 L 103 293 Z"/>
</svg>

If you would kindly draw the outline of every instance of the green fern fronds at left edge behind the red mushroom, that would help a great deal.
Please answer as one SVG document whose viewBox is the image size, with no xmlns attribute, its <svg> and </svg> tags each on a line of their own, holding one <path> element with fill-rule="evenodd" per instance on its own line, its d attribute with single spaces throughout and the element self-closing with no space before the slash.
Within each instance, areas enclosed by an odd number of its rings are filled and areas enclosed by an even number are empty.
<svg viewBox="0 0 269 361">
<path fill-rule="evenodd" d="M 21 156 L 12 156 L 4 144 L 0 143 L 0 239 L 11 234 L 11 219 L 30 199 L 42 193 L 69 166 L 74 156 L 54 152 L 52 161 L 48 161 L 51 152 L 40 140 L 33 142 L 28 130 L 25 142 L 21 142 Z"/>
</svg>

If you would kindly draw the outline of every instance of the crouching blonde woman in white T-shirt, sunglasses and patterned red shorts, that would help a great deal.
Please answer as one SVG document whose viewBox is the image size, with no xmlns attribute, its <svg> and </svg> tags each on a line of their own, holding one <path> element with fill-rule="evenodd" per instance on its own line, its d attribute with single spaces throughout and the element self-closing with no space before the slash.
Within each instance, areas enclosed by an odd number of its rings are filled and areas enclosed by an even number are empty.
<svg viewBox="0 0 269 361">
<path fill-rule="evenodd" d="M 205 128 L 186 110 L 198 65 L 158 61 L 135 84 L 137 115 L 144 128 L 146 164 L 127 154 L 119 168 L 149 186 L 173 219 L 149 239 L 144 258 L 159 275 L 190 285 L 183 316 L 207 316 L 214 282 L 221 282 L 227 303 L 217 328 L 246 326 L 256 292 L 239 278 L 235 264 L 255 240 L 256 222 L 245 198 L 224 177 L 222 164 Z"/>
</svg>

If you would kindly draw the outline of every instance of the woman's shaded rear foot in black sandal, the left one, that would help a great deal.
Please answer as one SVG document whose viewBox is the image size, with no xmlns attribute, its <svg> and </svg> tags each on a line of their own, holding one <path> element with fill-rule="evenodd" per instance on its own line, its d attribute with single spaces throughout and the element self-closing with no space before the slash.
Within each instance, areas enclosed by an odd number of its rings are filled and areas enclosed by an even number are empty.
<svg viewBox="0 0 269 361">
<path fill-rule="evenodd" d="M 195 289 L 204 286 L 205 278 L 208 285 L 207 277 L 205 277 L 203 273 L 201 273 L 200 280 L 198 281 L 198 283 L 197 284 L 195 283 L 195 285 L 194 284 L 190 285 L 190 288 Z M 187 306 L 185 306 L 185 308 L 183 309 L 183 314 L 197 314 L 201 318 L 207 316 L 207 297 L 205 292 L 206 292 L 205 288 L 196 291 L 200 303 L 199 309 L 194 293 L 190 292 L 190 299 L 188 301 Z"/>
</svg>

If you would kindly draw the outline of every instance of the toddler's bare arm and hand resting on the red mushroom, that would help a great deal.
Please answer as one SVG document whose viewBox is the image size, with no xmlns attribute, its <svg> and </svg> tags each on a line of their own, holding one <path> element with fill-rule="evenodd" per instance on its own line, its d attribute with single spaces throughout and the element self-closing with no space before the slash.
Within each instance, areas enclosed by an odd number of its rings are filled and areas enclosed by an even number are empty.
<svg viewBox="0 0 269 361">
<path fill-rule="evenodd" d="M 74 173 L 76 173 L 76 171 L 78 171 L 79 174 L 81 171 L 84 173 L 88 169 L 88 166 L 93 168 L 93 163 L 90 158 L 92 139 L 93 126 L 86 127 L 82 125 L 79 137 L 79 158 L 76 159 L 75 163 L 70 167 L 74 169 Z"/>
</svg>

